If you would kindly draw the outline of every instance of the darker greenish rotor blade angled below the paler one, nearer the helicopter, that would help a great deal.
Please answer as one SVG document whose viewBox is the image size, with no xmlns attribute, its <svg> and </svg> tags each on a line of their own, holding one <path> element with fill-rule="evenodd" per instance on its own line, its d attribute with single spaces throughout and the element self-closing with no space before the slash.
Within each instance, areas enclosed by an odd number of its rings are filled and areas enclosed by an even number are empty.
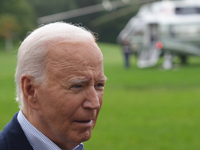
<svg viewBox="0 0 200 150">
<path fill-rule="evenodd" d="M 104 15 L 104 16 L 102 16 L 102 17 L 99 17 L 99 18 L 97 18 L 97 19 L 94 19 L 93 21 L 91 21 L 90 24 L 91 24 L 92 26 L 98 26 L 98 25 L 104 24 L 104 23 L 106 23 L 106 22 L 108 22 L 108 21 L 117 19 L 117 18 L 119 18 L 119 17 L 122 17 L 122 16 L 124 16 L 124 15 L 127 15 L 127 14 L 129 14 L 129 13 L 134 12 L 134 11 L 136 10 L 136 6 L 135 6 L 136 4 L 141 5 L 141 4 L 143 4 L 143 3 L 155 2 L 155 1 L 156 1 L 156 0 L 145 0 L 145 1 L 140 1 L 140 2 L 138 2 L 138 3 L 132 3 L 132 5 L 129 6 L 128 8 L 127 8 L 127 7 L 126 7 L 126 8 L 122 8 L 122 9 L 120 9 L 120 10 L 118 10 L 118 11 L 115 11 L 115 12 L 109 13 L 109 14 L 107 14 L 107 15 Z M 133 4 L 135 4 L 135 5 L 133 5 Z"/>
</svg>

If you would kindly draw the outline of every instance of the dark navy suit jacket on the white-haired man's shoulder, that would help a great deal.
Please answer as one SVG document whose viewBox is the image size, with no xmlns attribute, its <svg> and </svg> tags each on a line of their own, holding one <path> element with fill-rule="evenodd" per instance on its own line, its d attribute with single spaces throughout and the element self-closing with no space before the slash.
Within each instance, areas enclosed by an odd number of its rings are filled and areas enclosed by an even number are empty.
<svg viewBox="0 0 200 150">
<path fill-rule="evenodd" d="M 17 120 L 17 114 L 0 132 L 0 150 L 33 150 Z"/>
</svg>

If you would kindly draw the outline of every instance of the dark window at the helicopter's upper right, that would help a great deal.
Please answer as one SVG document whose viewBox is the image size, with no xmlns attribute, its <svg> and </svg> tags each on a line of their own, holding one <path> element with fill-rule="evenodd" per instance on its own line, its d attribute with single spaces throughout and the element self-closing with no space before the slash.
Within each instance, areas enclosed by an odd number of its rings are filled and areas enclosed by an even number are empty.
<svg viewBox="0 0 200 150">
<path fill-rule="evenodd" d="M 200 7 L 177 7 L 175 13 L 178 15 L 200 14 Z"/>
</svg>

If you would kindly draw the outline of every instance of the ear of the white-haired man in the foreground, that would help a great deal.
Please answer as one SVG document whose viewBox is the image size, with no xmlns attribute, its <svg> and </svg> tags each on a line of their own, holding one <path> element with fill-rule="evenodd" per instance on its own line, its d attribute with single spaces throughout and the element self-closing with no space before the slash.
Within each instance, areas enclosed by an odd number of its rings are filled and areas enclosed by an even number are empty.
<svg viewBox="0 0 200 150">
<path fill-rule="evenodd" d="M 32 108 L 37 109 L 37 100 L 35 98 L 34 78 L 28 74 L 21 76 L 21 88 L 23 92 L 24 101 Z"/>
</svg>

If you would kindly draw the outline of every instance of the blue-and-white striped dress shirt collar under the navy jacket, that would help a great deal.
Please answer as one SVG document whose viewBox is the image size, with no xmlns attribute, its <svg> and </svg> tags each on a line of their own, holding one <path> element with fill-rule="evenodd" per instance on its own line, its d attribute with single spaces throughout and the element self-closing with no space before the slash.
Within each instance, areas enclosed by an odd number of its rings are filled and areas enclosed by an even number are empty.
<svg viewBox="0 0 200 150">
<path fill-rule="evenodd" d="M 54 142 L 36 129 L 26 119 L 21 110 L 18 113 L 17 120 L 34 150 L 61 150 Z M 84 150 L 83 144 L 79 144 L 73 150 Z"/>
</svg>

